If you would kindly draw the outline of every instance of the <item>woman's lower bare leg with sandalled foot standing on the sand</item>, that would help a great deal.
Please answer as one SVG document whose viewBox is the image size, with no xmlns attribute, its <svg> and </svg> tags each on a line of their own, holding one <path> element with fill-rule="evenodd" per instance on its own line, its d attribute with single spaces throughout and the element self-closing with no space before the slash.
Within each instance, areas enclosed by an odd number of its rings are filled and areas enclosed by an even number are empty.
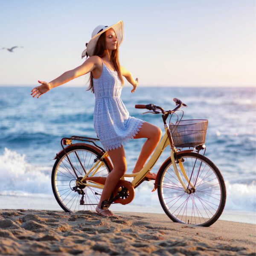
<svg viewBox="0 0 256 256">
<path fill-rule="evenodd" d="M 103 201 L 109 199 L 116 184 L 126 172 L 126 158 L 124 147 L 122 146 L 121 148 L 110 150 L 108 151 L 108 154 L 113 163 L 113 170 L 110 172 L 106 179 L 104 188 L 102 190 L 102 195 L 98 204 L 99 207 L 101 207 Z M 102 212 L 102 214 L 104 214 L 105 216 L 112 215 L 109 211 Z"/>
</svg>

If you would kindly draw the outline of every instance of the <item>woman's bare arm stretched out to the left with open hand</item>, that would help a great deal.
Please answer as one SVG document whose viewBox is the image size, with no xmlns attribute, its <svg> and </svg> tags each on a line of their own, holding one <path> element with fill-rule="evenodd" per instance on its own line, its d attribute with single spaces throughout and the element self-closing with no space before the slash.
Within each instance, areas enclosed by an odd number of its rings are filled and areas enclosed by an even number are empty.
<svg viewBox="0 0 256 256">
<path fill-rule="evenodd" d="M 47 93 L 52 88 L 60 86 L 61 84 L 65 84 L 70 80 L 73 80 L 79 76 L 82 76 L 82 75 L 85 75 L 85 74 L 91 72 L 92 70 L 95 69 L 95 67 L 97 65 L 97 61 L 98 61 L 97 57 L 92 56 L 92 57 L 88 58 L 86 61 L 84 61 L 84 63 L 81 64 L 81 66 L 76 67 L 73 70 L 66 71 L 61 76 L 50 81 L 49 83 L 47 83 L 45 81 L 38 80 L 38 82 L 41 85 L 32 89 L 31 95 L 33 96 L 33 98 L 35 98 L 35 97 L 40 98 L 44 93 Z"/>
</svg>

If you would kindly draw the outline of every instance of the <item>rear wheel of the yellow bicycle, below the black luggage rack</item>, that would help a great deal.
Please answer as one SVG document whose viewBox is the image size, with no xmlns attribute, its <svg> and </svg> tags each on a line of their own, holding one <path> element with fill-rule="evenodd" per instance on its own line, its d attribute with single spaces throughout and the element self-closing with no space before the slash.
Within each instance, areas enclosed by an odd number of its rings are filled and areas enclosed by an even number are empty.
<svg viewBox="0 0 256 256">
<path fill-rule="evenodd" d="M 99 152 L 85 145 L 73 145 L 66 150 L 76 172 L 79 177 L 84 177 L 84 169 L 90 170 L 94 164 L 94 159 L 99 156 Z M 76 156 L 79 156 L 84 169 L 82 168 Z M 108 162 L 103 159 L 103 166 L 97 171 L 95 176 L 107 177 L 111 172 Z M 91 172 L 92 174 L 93 172 Z M 90 175 L 91 175 L 90 174 Z M 89 176 L 90 176 L 89 175 Z M 64 151 L 61 152 L 52 168 L 52 191 L 62 209 L 65 212 L 76 212 L 79 210 L 94 211 L 99 203 L 102 189 L 91 186 L 80 187 L 79 190 L 84 191 L 84 205 L 80 205 L 82 195 L 73 191 L 76 186 L 77 177 L 67 159 Z"/>
</svg>

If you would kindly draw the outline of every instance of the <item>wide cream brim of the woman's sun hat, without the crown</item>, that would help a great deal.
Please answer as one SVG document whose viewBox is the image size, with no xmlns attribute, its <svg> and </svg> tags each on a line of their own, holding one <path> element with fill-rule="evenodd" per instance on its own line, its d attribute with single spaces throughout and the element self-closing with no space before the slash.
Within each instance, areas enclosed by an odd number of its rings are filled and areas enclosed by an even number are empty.
<svg viewBox="0 0 256 256">
<path fill-rule="evenodd" d="M 106 29 L 102 30 L 101 32 L 99 32 L 98 34 L 96 34 L 87 44 L 87 48 L 82 52 L 82 58 L 84 58 L 84 56 L 86 55 L 86 52 L 88 54 L 88 56 L 92 56 L 94 49 L 96 47 L 97 41 L 100 37 L 100 35 L 102 35 L 104 32 L 106 32 L 108 29 L 114 29 L 116 32 L 116 38 L 117 38 L 117 42 L 119 44 L 119 46 L 122 44 L 122 41 L 124 39 L 124 23 L 122 20 L 118 21 L 117 23 L 108 26 Z"/>
</svg>

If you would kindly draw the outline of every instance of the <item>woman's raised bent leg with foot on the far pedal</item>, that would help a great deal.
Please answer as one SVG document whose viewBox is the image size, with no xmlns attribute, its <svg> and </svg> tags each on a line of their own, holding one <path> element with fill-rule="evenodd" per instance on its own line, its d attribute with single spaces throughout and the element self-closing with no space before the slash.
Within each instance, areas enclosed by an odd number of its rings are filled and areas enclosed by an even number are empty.
<svg viewBox="0 0 256 256">
<path fill-rule="evenodd" d="M 144 167 L 148 157 L 152 154 L 157 144 L 161 140 L 161 136 L 162 131 L 159 127 L 148 122 L 143 123 L 139 133 L 136 134 L 134 139 L 147 138 L 147 140 L 141 149 L 140 156 L 137 160 L 133 172 L 140 172 L 140 170 Z M 151 176 L 152 175 L 148 173 L 146 177 L 150 178 Z"/>
</svg>

